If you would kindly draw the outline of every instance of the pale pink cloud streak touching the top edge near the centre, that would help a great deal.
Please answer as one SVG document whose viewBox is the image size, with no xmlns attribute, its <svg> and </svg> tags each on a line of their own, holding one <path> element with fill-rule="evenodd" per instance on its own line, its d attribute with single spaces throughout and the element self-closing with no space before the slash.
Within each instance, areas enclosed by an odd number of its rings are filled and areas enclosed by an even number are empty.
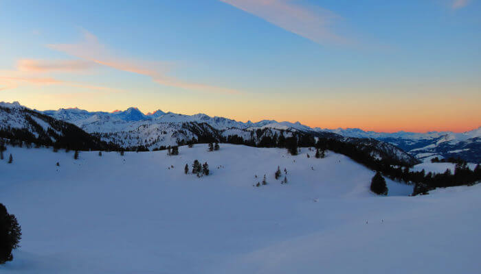
<svg viewBox="0 0 481 274">
<path fill-rule="evenodd" d="M 351 41 L 335 34 L 333 21 L 339 16 L 319 7 L 306 7 L 292 0 L 219 0 L 254 14 L 318 44 L 345 45 Z"/>
</svg>

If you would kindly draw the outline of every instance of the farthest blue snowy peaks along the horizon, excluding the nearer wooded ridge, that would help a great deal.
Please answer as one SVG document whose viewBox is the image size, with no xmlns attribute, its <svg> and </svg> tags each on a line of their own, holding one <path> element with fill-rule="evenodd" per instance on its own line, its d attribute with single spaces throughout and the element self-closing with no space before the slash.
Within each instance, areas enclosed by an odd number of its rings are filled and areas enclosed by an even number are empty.
<svg viewBox="0 0 481 274">
<path fill-rule="evenodd" d="M 290 123 L 287 121 L 278 122 L 274 120 L 263 120 L 256 123 L 246 123 L 206 114 L 184 115 L 172 112 L 157 112 L 143 114 L 138 108 L 128 108 L 118 112 L 87 112 L 78 109 L 47 110 L 43 112 L 49 116 L 63 121 L 74 123 L 85 129 L 87 132 L 102 134 L 114 132 L 131 132 L 139 126 L 165 124 L 165 123 L 208 123 L 215 129 L 278 129 L 298 130 L 302 132 L 328 132 L 351 138 L 373 138 L 383 142 L 389 142 L 409 152 L 420 160 L 430 158 L 462 158 L 469 162 L 481 162 L 481 127 L 469 132 L 372 132 L 357 128 L 347 129 L 323 129 L 320 127 L 309 127 L 300 122 Z"/>
</svg>

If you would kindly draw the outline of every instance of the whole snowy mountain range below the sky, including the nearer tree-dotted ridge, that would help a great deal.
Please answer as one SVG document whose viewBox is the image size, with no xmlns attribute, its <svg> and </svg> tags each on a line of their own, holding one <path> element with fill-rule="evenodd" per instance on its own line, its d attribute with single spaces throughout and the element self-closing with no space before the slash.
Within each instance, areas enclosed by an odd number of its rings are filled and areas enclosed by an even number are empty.
<svg viewBox="0 0 481 274">
<path fill-rule="evenodd" d="M 0 103 L 0 106 L 24 108 L 18 102 Z M 56 120 L 72 123 L 100 140 L 121 147 L 143 146 L 147 149 L 177 145 L 189 140 L 214 137 L 231 138 L 238 136 L 258 144 L 262 138 L 292 136 L 292 134 L 311 134 L 342 138 L 345 142 L 375 141 L 377 147 L 388 143 L 407 151 L 418 160 L 430 158 L 462 158 L 469 162 L 481 162 L 481 127 L 465 133 L 454 132 L 366 132 L 361 129 L 322 129 L 309 127 L 300 122 L 290 123 L 263 120 L 246 123 L 206 114 L 184 115 L 157 110 L 144 114 L 138 108 L 115 112 L 88 112 L 78 108 L 37 111 Z M 386 148 L 386 147 L 385 147 Z M 390 149 L 392 150 L 392 149 Z M 401 155 L 402 153 L 398 153 Z"/>
</svg>

